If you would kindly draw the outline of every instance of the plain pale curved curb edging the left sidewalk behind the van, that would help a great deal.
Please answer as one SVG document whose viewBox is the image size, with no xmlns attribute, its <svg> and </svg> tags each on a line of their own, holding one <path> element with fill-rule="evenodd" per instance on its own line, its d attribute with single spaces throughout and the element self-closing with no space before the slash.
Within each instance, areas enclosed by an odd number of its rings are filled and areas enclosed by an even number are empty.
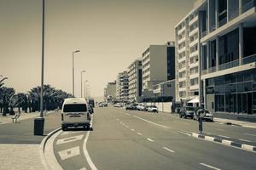
<svg viewBox="0 0 256 170">
<path fill-rule="evenodd" d="M 44 156 L 44 149 L 45 149 L 45 144 L 47 143 L 48 139 L 53 135 L 55 134 L 56 132 L 58 132 L 59 130 L 61 130 L 61 127 L 59 128 L 56 128 L 55 130 L 53 130 L 52 132 L 48 133 L 44 139 L 42 140 L 41 144 L 40 144 L 40 157 L 41 157 L 41 161 L 42 161 L 42 164 L 44 165 L 44 169 L 50 169 L 49 168 L 49 165 L 47 164 L 47 161 L 45 159 L 45 156 Z"/>
</svg>

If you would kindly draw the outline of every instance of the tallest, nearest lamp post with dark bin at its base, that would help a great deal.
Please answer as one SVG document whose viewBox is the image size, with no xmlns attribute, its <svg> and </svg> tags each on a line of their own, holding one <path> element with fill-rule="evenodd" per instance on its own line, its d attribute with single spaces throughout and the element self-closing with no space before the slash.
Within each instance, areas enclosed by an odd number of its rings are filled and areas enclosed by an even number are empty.
<svg viewBox="0 0 256 170">
<path fill-rule="evenodd" d="M 34 119 L 34 135 L 44 135 L 44 0 L 42 2 L 42 63 L 41 63 L 41 92 L 40 117 Z"/>
</svg>

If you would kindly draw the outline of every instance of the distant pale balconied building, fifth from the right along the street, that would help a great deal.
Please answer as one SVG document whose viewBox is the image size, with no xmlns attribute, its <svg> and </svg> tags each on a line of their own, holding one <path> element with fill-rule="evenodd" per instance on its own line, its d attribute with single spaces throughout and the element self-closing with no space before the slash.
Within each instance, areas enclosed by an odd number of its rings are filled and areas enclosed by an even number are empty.
<svg viewBox="0 0 256 170">
<path fill-rule="evenodd" d="M 127 71 L 120 72 L 116 79 L 116 99 L 121 102 L 128 101 L 129 84 Z"/>
</svg>

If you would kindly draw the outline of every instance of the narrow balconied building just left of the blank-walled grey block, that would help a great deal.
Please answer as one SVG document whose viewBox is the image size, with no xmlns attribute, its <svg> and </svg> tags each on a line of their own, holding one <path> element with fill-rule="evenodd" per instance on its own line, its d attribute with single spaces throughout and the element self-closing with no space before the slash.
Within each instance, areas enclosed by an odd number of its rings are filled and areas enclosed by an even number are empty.
<svg viewBox="0 0 256 170">
<path fill-rule="evenodd" d="M 129 101 L 138 101 L 142 96 L 142 59 L 134 60 L 128 67 Z"/>
</svg>

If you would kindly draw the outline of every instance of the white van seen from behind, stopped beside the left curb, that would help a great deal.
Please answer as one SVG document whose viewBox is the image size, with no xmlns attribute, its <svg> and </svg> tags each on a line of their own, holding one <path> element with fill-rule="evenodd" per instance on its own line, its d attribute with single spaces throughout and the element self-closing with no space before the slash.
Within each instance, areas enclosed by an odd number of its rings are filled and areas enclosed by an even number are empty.
<svg viewBox="0 0 256 170">
<path fill-rule="evenodd" d="M 61 128 L 67 127 L 90 128 L 90 112 L 87 102 L 82 98 L 68 98 L 64 100 L 61 111 Z"/>
</svg>

